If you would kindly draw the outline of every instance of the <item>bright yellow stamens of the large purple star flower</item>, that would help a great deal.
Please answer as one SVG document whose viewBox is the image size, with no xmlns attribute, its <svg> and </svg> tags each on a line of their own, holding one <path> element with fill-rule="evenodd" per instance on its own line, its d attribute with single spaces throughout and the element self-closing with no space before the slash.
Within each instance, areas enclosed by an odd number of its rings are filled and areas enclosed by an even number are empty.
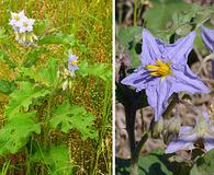
<svg viewBox="0 0 214 175">
<path fill-rule="evenodd" d="M 169 74 L 172 74 L 170 62 L 162 62 L 160 59 L 156 60 L 157 65 L 147 65 L 146 70 L 149 71 L 151 77 L 161 77 L 165 78 Z"/>
</svg>

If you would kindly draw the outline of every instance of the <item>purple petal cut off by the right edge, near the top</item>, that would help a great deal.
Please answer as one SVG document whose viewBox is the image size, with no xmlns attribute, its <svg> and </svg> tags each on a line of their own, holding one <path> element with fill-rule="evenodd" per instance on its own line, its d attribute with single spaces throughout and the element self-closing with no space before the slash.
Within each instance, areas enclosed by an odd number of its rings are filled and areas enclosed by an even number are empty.
<svg viewBox="0 0 214 175">
<path fill-rule="evenodd" d="M 205 44 L 205 46 L 214 51 L 214 30 L 206 28 L 205 26 L 201 26 L 201 36 Z"/>
</svg>

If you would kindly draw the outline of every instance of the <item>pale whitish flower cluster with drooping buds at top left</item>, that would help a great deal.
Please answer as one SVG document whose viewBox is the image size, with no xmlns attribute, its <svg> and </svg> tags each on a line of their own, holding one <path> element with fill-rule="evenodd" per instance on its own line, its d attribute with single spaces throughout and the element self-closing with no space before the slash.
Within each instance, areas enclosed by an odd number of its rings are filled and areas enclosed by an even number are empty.
<svg viewBox="0 0 214 175">
<path fill-rule="evenodd" d="M 37 36 L 33 33 L 34 22 L 35 20 L 25 16 L 24 11 L 12 12 L 9 24 L 13 27 L 15 40 L 26 46 L 34 45 L 34 40 L 37 40 Z"/>
</svg>

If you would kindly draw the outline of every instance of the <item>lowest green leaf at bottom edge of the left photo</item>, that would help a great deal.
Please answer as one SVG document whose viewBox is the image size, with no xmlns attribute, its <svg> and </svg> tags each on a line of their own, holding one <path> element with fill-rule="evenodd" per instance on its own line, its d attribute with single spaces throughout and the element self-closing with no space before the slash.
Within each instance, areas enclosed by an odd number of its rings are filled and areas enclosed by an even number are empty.
<svg viewBox="0 0 214 175">
<path fill-rule="evenodd" d="M 36 152 L 32 155 L 33 162 L 42 162 L 49 166 L 48 173 L 52 175 L 70 175 L 72 172 L 72 164 L 69 160 L 68 148 L 64 144 L 52 145 L 48 151 Z"/>
</svg>

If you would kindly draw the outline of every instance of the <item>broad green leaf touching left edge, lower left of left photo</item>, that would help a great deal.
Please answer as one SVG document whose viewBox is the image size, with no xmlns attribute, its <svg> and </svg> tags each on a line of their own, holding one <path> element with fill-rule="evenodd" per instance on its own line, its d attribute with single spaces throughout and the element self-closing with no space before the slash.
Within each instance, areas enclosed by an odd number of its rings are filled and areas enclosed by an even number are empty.
<svg viewBox="0 0 214 175">
<path fill-rule="evenodd" d="M 16 153 L 27 143 L 30 136 L 41 132 L 34 117 L 35 113 L 19 113 L 5 122 L 0 130 L 0 155 Z"/>
</svg>

